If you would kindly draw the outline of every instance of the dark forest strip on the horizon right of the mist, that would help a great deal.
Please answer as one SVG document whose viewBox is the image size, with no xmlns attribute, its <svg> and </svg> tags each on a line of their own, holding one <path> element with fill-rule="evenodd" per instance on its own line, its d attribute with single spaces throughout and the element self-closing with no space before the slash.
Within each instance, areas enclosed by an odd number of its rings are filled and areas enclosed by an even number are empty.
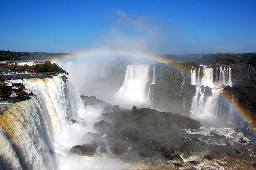
<svg viewBox="0 0 256 170">
<path fill-rule="evenodd" d="M 174 62 L 197 62 L 203 64 L 250 64 L 256 66 L 256 53 L 216 53 L 188 55 L 159 55 Z"/>
</svg>

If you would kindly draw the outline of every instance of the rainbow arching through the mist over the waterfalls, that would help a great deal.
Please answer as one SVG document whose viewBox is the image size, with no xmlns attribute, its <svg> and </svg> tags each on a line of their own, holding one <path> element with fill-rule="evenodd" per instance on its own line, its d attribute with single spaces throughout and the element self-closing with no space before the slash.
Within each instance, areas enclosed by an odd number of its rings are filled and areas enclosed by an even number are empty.
<svg viewBox="0 0 256 170">
<path fill-rule="evenodd" d="M 105 50 L 105 49 L 97 49 L 97 50 L 88 50 L 83 52 L 74 53 L 73 55 L 69 55 L 65 58 L 60 59 L 53 59 L 53 63 L 58 63 L 61 61 L 72 61 L 76 59 L 83 59 L 83 58 L 97 58 L 103 57 L 108 58 L 111 56 L 118 56 L 118 57 L 133 57 L 139 59 L 146 59 L 150 60 L 152 63 L 165 63 L 172 68 L 182 69 L 183 71 L 187 72 L 188 74 L 191 73 L 190 68 L 184 68 L 184 64 L 177 63 L 172 61 L 171 59 L 164 58 L 160 55 L 153 55 L 144 52 L 136 52 L 136 51 L 124 51 L 124 50 Z M 253 120 L 251 115 L 246 112 L 243 106 L 239 103 L 232 103 L 232 97 L 226 96 L 224 93 L 220 93 L 220 97 L 225 101 L 225 103 L 230 106 L 234 107 L 235 114 L 240 118 L 241 122 L 247 122 Z"/>
</svg>

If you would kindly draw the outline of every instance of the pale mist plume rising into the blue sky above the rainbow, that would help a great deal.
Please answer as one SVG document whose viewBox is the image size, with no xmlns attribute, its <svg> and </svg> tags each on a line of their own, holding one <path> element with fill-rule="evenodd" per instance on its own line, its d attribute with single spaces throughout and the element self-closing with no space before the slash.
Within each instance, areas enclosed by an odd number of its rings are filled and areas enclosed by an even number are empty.
<svg viewBox="0 0 256 170">
<path fill-rule="evenodd" d="M 102 31 L 102 30 L 101 30 Z M 184 54 L 191 51 L 182 28 L 161 17 L 116 12 L 116 20 L 99 33 L 96 47 L 134 50 L 154 54 Z"/>
</svg>

